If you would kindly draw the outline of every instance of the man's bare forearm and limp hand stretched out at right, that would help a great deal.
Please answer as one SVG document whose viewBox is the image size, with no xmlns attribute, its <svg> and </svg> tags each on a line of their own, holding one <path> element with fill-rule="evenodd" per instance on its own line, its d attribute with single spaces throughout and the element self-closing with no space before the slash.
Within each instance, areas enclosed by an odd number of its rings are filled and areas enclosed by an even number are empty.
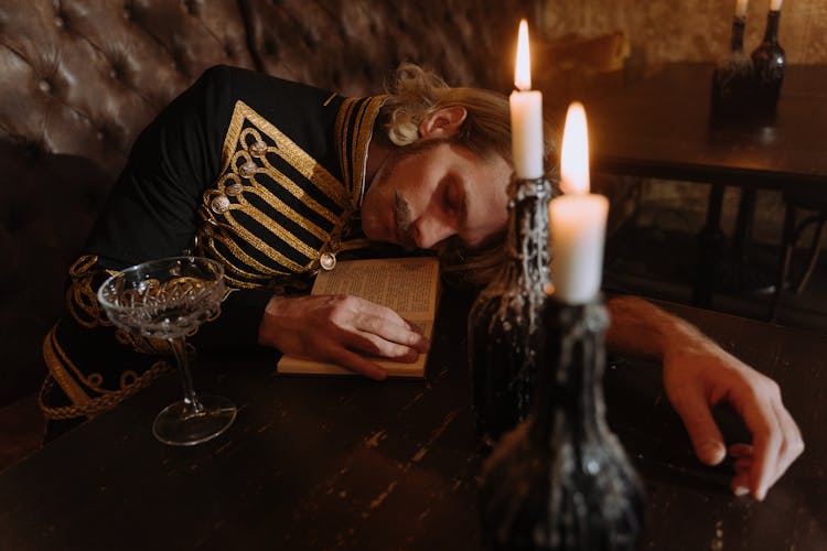
<svg viewBox="0 0 827 551">
<path fill-rule="evenodd" d="M 686 425 L 695 453 L 707 465 L 735 460 L 731 487 L 737 495 L 766 491 L 804 451 L 798 426 L 772 379 L 728 354 L 696 327 L 641 299 L 609 302 L 610 347 L 620 354 L 648 357 L 664 365 L 664 387 Z M 711 408 L 728 402 L 741 415 L 752 442 L 727 450 Z"/>
</svg>

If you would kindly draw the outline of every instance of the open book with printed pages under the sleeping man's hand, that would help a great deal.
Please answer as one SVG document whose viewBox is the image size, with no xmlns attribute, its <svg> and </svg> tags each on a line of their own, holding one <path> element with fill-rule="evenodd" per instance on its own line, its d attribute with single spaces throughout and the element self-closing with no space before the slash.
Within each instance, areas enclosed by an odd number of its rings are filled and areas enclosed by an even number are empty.
<svg viewBox="0 0 827 551">
<path fill-rule="evenodd" d="M 430 338 L 437 316 L 439 260 L 433 257 L 343 260 L 320 272 L 311 294 L 351 294 L 388 306 Z M 414 364 L 372 358 L 389 377 L 425 377 L 427 354 Z M 333 364 L 282 356 L 280 374 L 353 375 Z"/>
</svg>

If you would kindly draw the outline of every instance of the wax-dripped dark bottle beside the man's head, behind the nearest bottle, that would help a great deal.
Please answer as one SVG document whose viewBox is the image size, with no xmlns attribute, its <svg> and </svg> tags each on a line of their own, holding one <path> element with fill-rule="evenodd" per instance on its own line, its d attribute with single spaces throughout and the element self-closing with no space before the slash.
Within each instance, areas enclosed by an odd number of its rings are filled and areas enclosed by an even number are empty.
<svg viewBox="0 0 827 551">
<path fill-rule="evenodd" d="M 508 193 L 506 260 L 474 301 L 468 324 L 474 418 L 487 447 L 528 414 L 545 343 L 551 186 L 545 177 L 515 179 Z"/>
</svg>

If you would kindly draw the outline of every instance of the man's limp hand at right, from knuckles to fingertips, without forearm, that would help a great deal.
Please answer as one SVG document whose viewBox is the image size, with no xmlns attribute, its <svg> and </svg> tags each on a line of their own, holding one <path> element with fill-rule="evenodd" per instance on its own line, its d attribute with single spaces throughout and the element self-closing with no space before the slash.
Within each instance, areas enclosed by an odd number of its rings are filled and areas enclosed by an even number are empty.
<svg viewBox="0 0 827 551">
<path fill-rule="evenodd" d="M 731 482 L 737 495 L 751 493 L 762 500 L 767 489 L 804 451 L 801 432 L 781 400 L 772 379 L 748 367 L 711 341 L 696 342 L 664 357 L 664 386 L 684 420 L 695 453 L 717 465 L 727 447 L 710 407 L 729 402 L 752 433 L 752 443 L 733 444 Z"/>
</svg>

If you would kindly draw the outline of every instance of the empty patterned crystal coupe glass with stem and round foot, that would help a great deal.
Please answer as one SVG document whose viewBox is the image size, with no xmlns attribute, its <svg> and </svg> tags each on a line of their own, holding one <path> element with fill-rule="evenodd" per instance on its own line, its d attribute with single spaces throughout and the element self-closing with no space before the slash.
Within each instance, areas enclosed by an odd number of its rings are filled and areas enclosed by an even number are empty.
<svg viewBox="0 0 827 551">
<path fill-rule="evenodd" d="M 235 420 L 235 404 L 217 396 L 198 396 L 184 348 L 185 337 L 213 317 L 224 298 L 224 268 L 198 257 L 150 260 L 107 279 L 98 302 L 123 331 L 170 343 L 184 399 L 155 417 L 152 433 L 171 445 L 194 445 L 223 433 Z"/>
</svg>

